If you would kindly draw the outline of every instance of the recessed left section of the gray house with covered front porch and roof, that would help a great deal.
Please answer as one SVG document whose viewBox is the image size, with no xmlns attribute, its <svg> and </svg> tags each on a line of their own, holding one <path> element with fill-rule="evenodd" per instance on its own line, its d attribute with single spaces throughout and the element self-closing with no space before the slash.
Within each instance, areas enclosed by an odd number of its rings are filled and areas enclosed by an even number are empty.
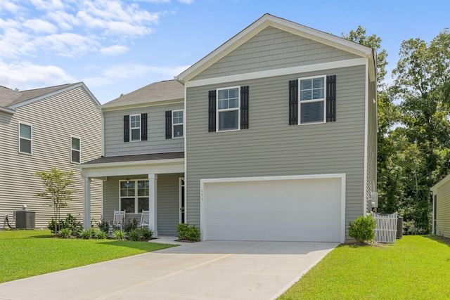
<svg viewBox="0 0 450 300">
<path fill-rule="evenodd" d="M 184 86 L 156 82 L 101 110 L 103 156 L 80 167 L 86 178 L 103 178 L 105 220 L 125 210 L 128 221 L 140 221 L 141 212 L 149 210 L 156 235 L 176 235 L 176 226 L 185 221 Z"/>
</svg>

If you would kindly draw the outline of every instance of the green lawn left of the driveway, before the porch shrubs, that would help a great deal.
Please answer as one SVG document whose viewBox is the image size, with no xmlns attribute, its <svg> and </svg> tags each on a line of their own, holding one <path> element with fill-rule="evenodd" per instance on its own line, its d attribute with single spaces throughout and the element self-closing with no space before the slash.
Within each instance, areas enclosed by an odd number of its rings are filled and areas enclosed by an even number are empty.
<svg viewBox="0 0 450 300">
<path fill-rule="evenodd" d="M 49 230 L 0 231 L 0 282 L 174 247 L 122 240 L 60 239 Z"/>
</svg>

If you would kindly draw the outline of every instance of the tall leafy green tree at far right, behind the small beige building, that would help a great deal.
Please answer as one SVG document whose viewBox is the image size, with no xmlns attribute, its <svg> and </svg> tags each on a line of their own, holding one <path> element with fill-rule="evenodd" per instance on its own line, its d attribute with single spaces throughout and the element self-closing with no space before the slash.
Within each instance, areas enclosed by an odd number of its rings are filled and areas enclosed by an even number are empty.
<svg viewBox="0 0 450 300">
<path fill-rule="evenodd" d="M 439 33 L 430 44 L 423 39 L 401 43 L 399 62 L 392 71 L 396 76 L 392 93 L 399 102 L 401 126 L 410 148 L 409 199 L 411 218 L 421 232 L 430 228 L 430 188 L 449 171 L 450 146 L 450 34 Z"/>
</svg>

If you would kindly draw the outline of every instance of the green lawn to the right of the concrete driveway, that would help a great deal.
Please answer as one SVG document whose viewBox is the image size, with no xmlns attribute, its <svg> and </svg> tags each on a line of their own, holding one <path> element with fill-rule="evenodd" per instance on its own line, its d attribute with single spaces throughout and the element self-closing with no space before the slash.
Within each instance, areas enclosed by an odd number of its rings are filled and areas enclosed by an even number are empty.
<svg viewBox="0 0 450 300">
<path fill-rule="evenodd" d="M 449 282 L 448 241 L 407 235 L 340 245 L 278 299 L 450 299 Z"/>
</svg>

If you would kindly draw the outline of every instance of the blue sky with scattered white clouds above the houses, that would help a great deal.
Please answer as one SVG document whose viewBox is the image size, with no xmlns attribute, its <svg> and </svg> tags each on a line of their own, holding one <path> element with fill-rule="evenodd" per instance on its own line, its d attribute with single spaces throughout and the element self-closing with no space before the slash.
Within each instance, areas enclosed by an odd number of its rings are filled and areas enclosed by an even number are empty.
<svg viewBox="0 0 450 300">
<path fill-rule="evenodd" d="M 84 81 L 101 103 L 173 79 L 264 13 L 383 40 L 386 81 L 401 42 L 450 27 L 448 0 L 0 0 L 0 86 Z"/>
</svg>

